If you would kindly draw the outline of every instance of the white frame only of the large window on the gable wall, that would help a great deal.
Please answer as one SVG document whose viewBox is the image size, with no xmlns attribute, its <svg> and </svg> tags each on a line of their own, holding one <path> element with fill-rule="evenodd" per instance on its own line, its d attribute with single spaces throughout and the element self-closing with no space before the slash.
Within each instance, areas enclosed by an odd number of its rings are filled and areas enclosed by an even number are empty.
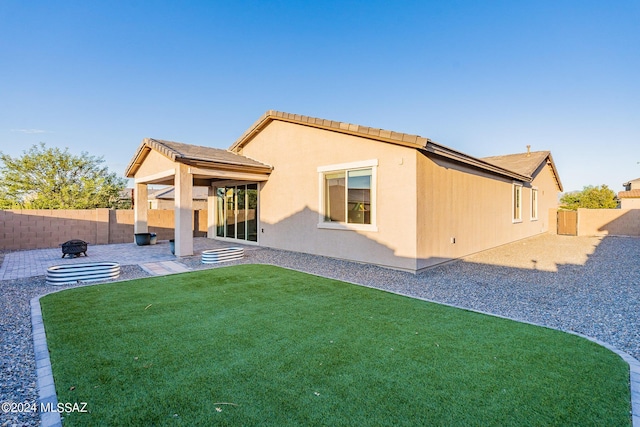
<svg viewBox="0 0 640 427">
<path fill-rule="evenodd" d="M 325 174 L 344 172 L 345 176 L 347 172 L 358 169 L 371 169 L 371 224 L 352 224 L 349 222 L 328 222 L 325 221 Z M 318 186 L 319 186 L 319 199 L 318 199 L 318 228 L 325 228 L 331 230 L 356 230 L 356 231 L 378 231 L 377 214 L 377 182 L 378 182 L 378 159 L 362 160 L 359 162 L 351 163 L 339 163 L 335 165 L 319 166 L 318 172 Z"/>
</svg>

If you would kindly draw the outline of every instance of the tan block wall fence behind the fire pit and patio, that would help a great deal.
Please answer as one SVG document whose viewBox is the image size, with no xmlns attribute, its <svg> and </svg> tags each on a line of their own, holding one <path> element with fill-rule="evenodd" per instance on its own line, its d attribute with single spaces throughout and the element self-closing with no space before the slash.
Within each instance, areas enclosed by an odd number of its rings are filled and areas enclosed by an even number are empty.
<svg viewBox="0 0 640 427">
<path fill-rule="evenodd" d="M 194 211 L 193 217 L 193 235 L 206 236 L 207 211 Z M 173 239 L 173 210 L 149 210 L 148 224 L 159 240 Z M 0 210 L 0 250 L 55 248 L 71 239 L 131 243 L 133 210 Z"/>
</svg>

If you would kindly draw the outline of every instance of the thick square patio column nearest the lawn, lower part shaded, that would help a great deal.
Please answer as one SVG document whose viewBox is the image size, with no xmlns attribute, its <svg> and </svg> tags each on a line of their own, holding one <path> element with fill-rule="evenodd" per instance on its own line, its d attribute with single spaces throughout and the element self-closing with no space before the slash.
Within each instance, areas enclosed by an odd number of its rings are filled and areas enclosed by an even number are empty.
<svg viewBox="0 0 640 427">
<path fill-rule="evenodd" d="M 176 256 L 193 255 L 193 176 L 189 167 L 176 165 L 175 186 L 175 252 Z"/>
</svg>

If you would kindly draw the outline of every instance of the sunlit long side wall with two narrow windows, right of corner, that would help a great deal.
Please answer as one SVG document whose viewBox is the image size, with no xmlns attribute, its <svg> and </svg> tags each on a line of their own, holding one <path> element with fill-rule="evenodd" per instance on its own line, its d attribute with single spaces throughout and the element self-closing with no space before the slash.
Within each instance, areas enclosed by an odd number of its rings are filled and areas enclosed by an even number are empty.
<svg viewBox="0 0 640 427">
<path fill-rule="evenodd" d="M 549 166 L 522 183 L 522 221 L 514 222 L 514 180 L 426 155 L 417 161 L 418 269 L 548 231 L 558 195 Z M 537 219 L 531 218 L 532 188 L 538 189 Z"/>
</svg>

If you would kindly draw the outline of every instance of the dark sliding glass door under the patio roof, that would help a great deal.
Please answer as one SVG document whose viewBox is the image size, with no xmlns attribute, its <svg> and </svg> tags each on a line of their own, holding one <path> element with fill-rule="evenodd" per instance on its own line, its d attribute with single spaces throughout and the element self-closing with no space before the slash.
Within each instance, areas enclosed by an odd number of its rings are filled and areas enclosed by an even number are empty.
<svg viewBox="0 0 640 427">
<path fill-rule="evenodd" d="M 258 241 L 258 184 L 218 187 L 216 235 Z"/>
</svg>

